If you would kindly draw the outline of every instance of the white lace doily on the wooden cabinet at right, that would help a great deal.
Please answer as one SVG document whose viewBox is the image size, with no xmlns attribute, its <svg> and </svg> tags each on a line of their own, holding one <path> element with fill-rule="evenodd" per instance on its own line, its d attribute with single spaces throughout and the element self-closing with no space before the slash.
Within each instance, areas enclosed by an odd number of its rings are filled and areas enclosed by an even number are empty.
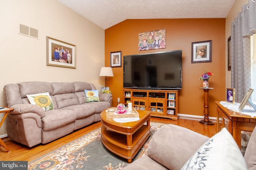
<svg viewBox="0 0 256 170">
<path fill-rule="evenodd" d="M 256 116 L 256 111 L 254 110 L 253 107 L 245 105 L 244 109 L 242 110 L 242 112 L 239 111 L 238 107 L 240 105 L 240 103 L 235 103 L 234 105 L 232 103 L 228 103 L 228 102 L 224 102 L 221 101 L 220 104 L 224 107 L 227 107 L 230 110 L 245 114 L 245 115 L 250 115 L 251 117 Z"/>
</svg>

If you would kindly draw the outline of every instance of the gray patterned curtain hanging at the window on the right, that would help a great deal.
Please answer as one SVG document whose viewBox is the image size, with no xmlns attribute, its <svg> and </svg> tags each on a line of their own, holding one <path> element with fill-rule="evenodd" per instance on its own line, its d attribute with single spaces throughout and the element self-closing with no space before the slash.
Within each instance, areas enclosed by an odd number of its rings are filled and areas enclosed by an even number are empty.
<svg viewBox="0 0 256 170">
<path fill-rule="evenodd" d="M 255 7 L 255 0 L 248 0 L 231 23 L 231 88 L 236 89 L 236 102 L 241 102 L 251 87 L 250 35 L 256 31 Z"/>
</svg>

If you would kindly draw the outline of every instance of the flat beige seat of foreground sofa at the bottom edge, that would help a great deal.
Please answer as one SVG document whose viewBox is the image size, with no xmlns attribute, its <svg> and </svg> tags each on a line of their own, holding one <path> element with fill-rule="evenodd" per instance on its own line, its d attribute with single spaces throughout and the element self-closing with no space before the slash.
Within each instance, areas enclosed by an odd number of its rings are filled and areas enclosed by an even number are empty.
<svg viewBox="0 0 256 170">
<path fill-rule="evenodd" d="M 148 155 L 144 155 L 137 160 L 133 161 L 128 166 L 124 167 L 123 170 L 168 170 L 158 162 L 154 161 Z"/>
</svg>

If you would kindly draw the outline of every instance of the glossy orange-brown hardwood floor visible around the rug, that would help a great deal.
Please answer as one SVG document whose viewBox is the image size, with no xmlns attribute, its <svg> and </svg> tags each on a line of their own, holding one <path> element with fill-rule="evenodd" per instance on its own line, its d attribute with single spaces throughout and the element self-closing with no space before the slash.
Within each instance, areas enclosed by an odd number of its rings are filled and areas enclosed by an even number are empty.
<svg viewBox="0 0 256 170">
<path fill-rule="evenodd" d="M 192 131 L 196 131 L 208 137 L 212 137 L 213 135 L 216 134 L 216 131 L 217 131 L 216 123 L 214 123 L 215 125 L 203 125 L 202 123 L 198 122 L 199 120 L 196 120 L 196 119 L 192 120 L 192 119 L 179 118 L 178 121 L 174 121 L 171 119 L 151 117 L 150 121 L 166 123 L 166 124 L 174 124 L 174 125 L 186 127 Z M 101 122 L 93 123 L 92 125 L 89 125 L 77 131 L 74 131 L 73 133 L 66 135 L 56 141 L 52 141 L 48 144 L 36 145 L 31 148 L 25 145 L 16 143 L 7 137 L 2 140 L 11 151 L 6 152 L 4 147 L 0 147 L 0 160 L 2 161 L 3 160 L 12 160 L 12 161 L 25 160 L 25 161 L 31 162 L 49 152 L 52 152 L 55 149 L 62 147 L 67 143 L 74 141 L 75 139 L 78 139 L 79 137 L 82 137 L 83 135 L 85 135 L 86 133 L 89 133 L 90 131 L 98 129 L 101 126 L 102 126 Z"/>
</svg>

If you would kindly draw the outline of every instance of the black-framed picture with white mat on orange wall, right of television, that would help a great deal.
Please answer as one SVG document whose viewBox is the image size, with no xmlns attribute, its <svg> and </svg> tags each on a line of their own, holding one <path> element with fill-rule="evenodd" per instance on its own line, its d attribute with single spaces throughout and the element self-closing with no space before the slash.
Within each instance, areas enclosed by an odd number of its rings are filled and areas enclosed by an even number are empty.
<svg viewBox="0 0 256 170">
<path fill-rule="evenodd" d="M 191 63 L 212 62 L 212 40 L 192 43 Z"/>
</svg>

